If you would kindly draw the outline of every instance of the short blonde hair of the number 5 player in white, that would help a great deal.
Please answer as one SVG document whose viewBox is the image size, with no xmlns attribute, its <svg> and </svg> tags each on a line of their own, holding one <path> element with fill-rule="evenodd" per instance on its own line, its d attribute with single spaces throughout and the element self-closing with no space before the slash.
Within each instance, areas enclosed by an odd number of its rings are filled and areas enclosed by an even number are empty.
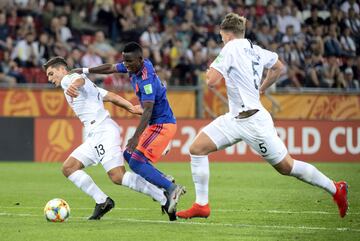
<svg viewBox="0 0 360 241">
<path fill-rule="evenodd" d="M 220 24 L 220 30 L 229 31 L 237 36 L 245 36 L 246 18 L 236 13 L 228 13 Z"/>
</svg>

